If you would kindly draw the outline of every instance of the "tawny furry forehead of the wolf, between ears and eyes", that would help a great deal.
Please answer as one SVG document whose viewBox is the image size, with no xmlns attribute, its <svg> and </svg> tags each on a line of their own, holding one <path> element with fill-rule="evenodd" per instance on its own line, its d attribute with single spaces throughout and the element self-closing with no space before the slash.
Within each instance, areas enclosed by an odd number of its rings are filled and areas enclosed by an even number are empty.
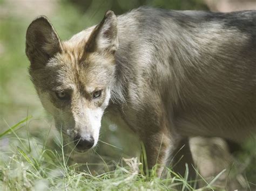
<svg viewBox="0 0 256 191">
<path fill-rule="evenodd" d="M 74 52 L 65 52 L 56 56 L 49 64 L 53 77 L 58 84 L 63 86 L 103 87 L 113 76 L 114 66 L 108 59 L 103 59 L 97 54 L 86 56 L 81 60 Z"/>
</svg>

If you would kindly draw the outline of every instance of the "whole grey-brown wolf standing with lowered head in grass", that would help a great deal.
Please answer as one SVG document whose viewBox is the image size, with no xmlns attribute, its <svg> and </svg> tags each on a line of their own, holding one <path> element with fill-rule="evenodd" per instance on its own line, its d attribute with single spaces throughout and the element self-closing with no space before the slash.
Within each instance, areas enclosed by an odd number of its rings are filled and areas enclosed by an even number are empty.
<svg viewBox="0 0 256 191">
<path fill-rule="evenodd" d="M 66 41 L 39 16 L 25 52 L 43 107 L 79 152 L 97 145 L 102 117 L 139 136 L 158 175 L 182 145 L 180 169 L 192 164 L 191 137 L 255 133 L 256 11 L 107 11 Z"/>
</svg>

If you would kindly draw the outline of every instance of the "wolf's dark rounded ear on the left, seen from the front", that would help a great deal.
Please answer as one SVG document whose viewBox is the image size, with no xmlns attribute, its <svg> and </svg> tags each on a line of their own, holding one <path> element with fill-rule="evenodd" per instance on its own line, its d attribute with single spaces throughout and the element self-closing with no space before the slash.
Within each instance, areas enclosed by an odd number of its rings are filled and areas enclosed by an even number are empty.
<svg viewBox="0 0 256 191">
<path fill-rule="evenodd" d="M 31 67 L 39 68 L 52 58 L 62 47 L 58 34 L 45 16 L 33 20 L 26 31 L 26 56 Z"/>
</svg>

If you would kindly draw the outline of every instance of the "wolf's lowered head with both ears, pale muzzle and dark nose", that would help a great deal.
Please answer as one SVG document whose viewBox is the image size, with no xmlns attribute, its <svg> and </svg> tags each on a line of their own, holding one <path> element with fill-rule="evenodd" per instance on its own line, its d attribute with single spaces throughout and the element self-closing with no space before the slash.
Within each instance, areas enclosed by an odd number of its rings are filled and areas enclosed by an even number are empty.
<svg viewBox="0 0 256 191">
<path fill-rule="evenodd" d="M 66 144 L 87 151 L 98 142 L 100 122 L 115 79 L 117 18 L 107 11 L 96 27 L 60 41 L 49 20 L 38 17 L 26 32 L 30 75 Z"/>
</svg>

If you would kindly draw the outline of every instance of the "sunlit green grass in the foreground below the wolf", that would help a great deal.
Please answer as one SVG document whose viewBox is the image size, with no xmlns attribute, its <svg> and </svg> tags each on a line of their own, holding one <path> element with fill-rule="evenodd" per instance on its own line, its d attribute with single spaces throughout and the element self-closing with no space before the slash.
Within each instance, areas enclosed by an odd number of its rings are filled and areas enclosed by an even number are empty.
<svg viewBox="0 0 256 191">
<path fill-rule="evenodd" d="M 62 136 L 55 140 L 56 149 L 49 148 L 47 139 L 18 136 L 22 128 L 28 130 L 29 119 L 11 126 L 0 135 L 0 187 L 3 190 L 165 190 L 175 189 L 193 190 L 194 181 L 185 178 L 166 168 L 165 179 L 157 178 L 153 172 L 151 176 L 143 173 L 143 166 L 137 158 L 122 159 L 118 163 L 103 162 L 102 164 L 73 164 L 69 165 L 70 154 L 65 154 Z M 11 142 L 4 144 L 5 141 Z M 145 159 L 145 153 L 143 152 Z M 104 166 L 106 171 L 97 173 L 91 166 Z M 86 170 L 80 170 L 81 166 Z M 216 176 L 215 179 L 218 177 Z M 205 188 L 211 187 L 215 179 Z"/>
</svg>

